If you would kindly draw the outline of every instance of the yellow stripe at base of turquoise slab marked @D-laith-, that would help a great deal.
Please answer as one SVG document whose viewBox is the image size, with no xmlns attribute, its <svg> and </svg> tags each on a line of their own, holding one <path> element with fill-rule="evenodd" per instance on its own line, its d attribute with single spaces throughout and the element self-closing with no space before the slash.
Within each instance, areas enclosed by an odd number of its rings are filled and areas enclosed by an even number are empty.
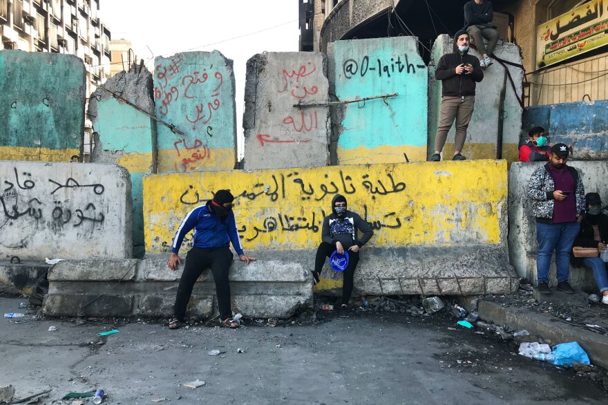
<svg viewBox="0 0 608 405">
<path fill-rule="evenodd" d="M 410 162 L 426 161 L 426 146 L 412 147 L 402 145 L 392 147 L 384 145 L 377 148 L 357 147 L 354 149 L 338 148 L 338 162 L 340 164 L 379 164 L 379 163 L 404 163 L 407 153 Z"/>
</svg>

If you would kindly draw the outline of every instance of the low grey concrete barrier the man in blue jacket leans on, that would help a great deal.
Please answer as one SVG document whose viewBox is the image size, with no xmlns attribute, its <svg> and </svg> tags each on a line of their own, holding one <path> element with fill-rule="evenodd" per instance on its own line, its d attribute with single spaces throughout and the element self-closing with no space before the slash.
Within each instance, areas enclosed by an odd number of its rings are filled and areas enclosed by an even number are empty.
<svg viewBox="0 0 608 405">
<path fill-rule="evenodd" d="M 44 314 L 170 317 L 183 267 L 171 271 L 167 256 L 59 262 L 48 276 Z M 301 263 L 237 261 L 230 281 L 232 309 L 245 317 L 290 317 L 299 307 L 312 305 L 312 279 Z M 211 317 L 217 312 L 213 276 L 205 270 L 194 286 L 187 314 Z"/>
</svg>

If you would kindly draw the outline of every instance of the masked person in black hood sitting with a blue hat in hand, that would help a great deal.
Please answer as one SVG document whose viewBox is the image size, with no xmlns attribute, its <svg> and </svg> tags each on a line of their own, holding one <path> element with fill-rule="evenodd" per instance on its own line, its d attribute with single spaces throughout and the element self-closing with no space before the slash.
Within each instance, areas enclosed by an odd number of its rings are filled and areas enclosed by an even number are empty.
<svg viewBox="0 0 608 405">
<path fill-rule="evenodd" d="M 357 237 L 357 229 L 363 232 L 361 238 Z M 316 250 L 314 270 L 312 277 L 314 284 L 319 283 L 319 274 L 325 264 L 325 258 L 330 257 L 334 250 L 339 254 L 348 252 L 348 266 L 343 272 L 342 305 L 340 317 L 348 318 L 348 301 L 352 294 L 354 283 L 354 269 L 359 263 L 359 249 L 374 235 L 372 227 L 359 214 L 346 209 L 346 198 L 336 194 L 332 199 L 332 214 L 323 219 L 321 232 L 321 245 Z"/>
</svg>

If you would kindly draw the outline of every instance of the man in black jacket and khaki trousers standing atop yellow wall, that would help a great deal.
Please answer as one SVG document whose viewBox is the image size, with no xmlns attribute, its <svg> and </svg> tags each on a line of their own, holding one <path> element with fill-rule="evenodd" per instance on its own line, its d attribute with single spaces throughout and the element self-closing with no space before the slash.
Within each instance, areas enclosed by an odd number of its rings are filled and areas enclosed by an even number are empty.
<svg viewBox="0 0 608 405">
<path fill-rule="evenodd" d="M 441 113 L 439 127 L 435 135 L 435 154 L 430 158 L 433 162 L 441 160 L 448 131 L 456 120 L 456 136 L 454 138 L 453 160 L 465 160 L 462 147 L 466 140 L 466 129 L 473 116 L 475 106 L 475 85 L 484 79 L 484 72 L 475 67 L 479 59 L 468 55 L 468 34 L 461 30 L 456 32 L 454 41 L 457 49 L 454 53 L 446 53 L 437 63 L 435 79 L 441 80 Z"/>
</svg>

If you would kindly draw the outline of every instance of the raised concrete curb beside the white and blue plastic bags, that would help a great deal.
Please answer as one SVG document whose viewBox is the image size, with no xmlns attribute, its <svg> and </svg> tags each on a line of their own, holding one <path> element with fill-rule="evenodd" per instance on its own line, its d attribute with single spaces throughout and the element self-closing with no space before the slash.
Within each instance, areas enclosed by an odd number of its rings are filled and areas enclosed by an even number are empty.
<svg viewBox="0 0 608 405">
<path fill-rule="evenodd" d="M 516 330 L 526 329 L 531 335 L 551 339 L 555 344 L 578 341 L 585 349 L 591 364 L 608 368 L 608 337 L 559 322 L 555 317 L 520 308 L 504 307 L 500 303 L 479 301 L 479 317 L 497 325 L 509 325 Z"/>
</svg>

